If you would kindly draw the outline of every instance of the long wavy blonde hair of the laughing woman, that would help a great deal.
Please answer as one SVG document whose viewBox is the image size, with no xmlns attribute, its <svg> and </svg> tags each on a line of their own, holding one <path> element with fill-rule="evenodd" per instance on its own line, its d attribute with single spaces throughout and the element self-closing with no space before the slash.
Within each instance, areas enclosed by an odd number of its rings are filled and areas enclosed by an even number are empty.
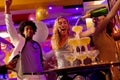
<svg viewBox="0 0 120 80">
<path fill-rule="evenodd" d="M 65 18 L 63 16 L 60 16 L 55 20 L 54 25 L 53 25 L 53 35 L 51 38 L 51 45 L 52 45 L 52 49 L 54 49 L 54 50 L 58 50 L 62 46 L 62 45 L 60 45 L 62 37 L 58 30 L 58 21 L 61 18 L 66 19 L 66 21 L 68 22 L 67 18 Z M 68 24 L 69 24 L 69 22 L 68 22 Z M 69 29 L 68 29 L 68 34 L 69 34 Z"/>
</svg>

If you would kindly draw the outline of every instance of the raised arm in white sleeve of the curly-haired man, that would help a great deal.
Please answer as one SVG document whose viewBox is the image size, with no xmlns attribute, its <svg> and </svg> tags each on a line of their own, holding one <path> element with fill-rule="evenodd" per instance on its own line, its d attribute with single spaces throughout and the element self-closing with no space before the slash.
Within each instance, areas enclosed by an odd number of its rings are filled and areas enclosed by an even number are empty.
<svg viewBox="0 0 120 80">
<path fill-rule="evenodd" d="M 10 34 L 10 39 L 15 46 L 15 43 L 19 40 L 19 37 L 17 30 L 14 27 L 12 16 L 10 14 L 11 4 L 12 4 L 12 0 L 5 0 L 5 23 L 7 26 L 7 32 Z"/>
</svg>

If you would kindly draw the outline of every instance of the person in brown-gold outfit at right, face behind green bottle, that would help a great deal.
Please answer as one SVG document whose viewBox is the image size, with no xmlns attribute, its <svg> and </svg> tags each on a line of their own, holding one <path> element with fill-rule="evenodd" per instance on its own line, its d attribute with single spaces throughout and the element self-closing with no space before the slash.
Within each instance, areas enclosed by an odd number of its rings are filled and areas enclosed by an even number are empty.
<svg viewBox="0 0 120 80">
<path fill-rule="evenodd" d="M 120 0 L 117 0 L 113 8 L 107 14 L 106 8 L 98 9 L 91 12 L 91 17 L 95 23 L 95 32 L 93 34 L 93 42 L 95 47 L 100 51 L 98 59 L 100 62 L 117 62 L 117 50 L 115 41 L 111 34 L 107 32 L 111 28 L 111 20 L 116 15 L 120 7 Z M 106 12 L 105 12 L 106 11 Z M 103 14 L 101 14 L 101 12 Z M 97 13 L 97 14 L 96 14 Z M 110 31 L 110 30 L 109 30 Z M 117 67 L 111 67 L 112 80 L 120 80 L 120 71 Z"/>
</svg>

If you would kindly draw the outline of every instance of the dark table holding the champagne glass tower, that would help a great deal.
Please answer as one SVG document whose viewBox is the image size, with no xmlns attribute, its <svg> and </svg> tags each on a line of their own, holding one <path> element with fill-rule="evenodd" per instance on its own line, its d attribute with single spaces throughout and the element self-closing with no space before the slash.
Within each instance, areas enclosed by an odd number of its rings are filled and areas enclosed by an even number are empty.
<svg viewBox="0 0 120 80">
<path fill-rule="evenodd" d="M 93 73 L 94 71 L 95 72 L 102 71 L 106 74 L 106 80 L 112 80 L 112 74 L 110 71 L 110 67 L 119 66 L 119 65 L 120 65 L 120 62 L 88 64 L 85 66 L 76 66 L 76 67 L 67 67 L 67 68 L 61 68 L 61 69 L 46 70 L 46 71 L 41 72 L 41 74 L 56 73 L 58 76 L 66 77 L 65 79 L 61 79 L 61 80 L 70 80 L 70 79 L 67 79 L 67 76 L 70 74 L 87 76 L 88 74 Z M 71 80 L 73 80 L 75 76 L 73 76 Z"/>
</svg>

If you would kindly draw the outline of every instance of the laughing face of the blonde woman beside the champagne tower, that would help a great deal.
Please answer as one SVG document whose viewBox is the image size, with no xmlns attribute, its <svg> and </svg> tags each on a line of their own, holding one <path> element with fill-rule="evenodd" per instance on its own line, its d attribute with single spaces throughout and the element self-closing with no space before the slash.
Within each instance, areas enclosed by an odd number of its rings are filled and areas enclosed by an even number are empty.
<svg viewBox="0 0 120 80">
<path fill-rule="evenodd" d="M 69 24 L 65 18 L 58 19 L 58 31 L 61 35 L 68 34 Z"/>
</svg>

